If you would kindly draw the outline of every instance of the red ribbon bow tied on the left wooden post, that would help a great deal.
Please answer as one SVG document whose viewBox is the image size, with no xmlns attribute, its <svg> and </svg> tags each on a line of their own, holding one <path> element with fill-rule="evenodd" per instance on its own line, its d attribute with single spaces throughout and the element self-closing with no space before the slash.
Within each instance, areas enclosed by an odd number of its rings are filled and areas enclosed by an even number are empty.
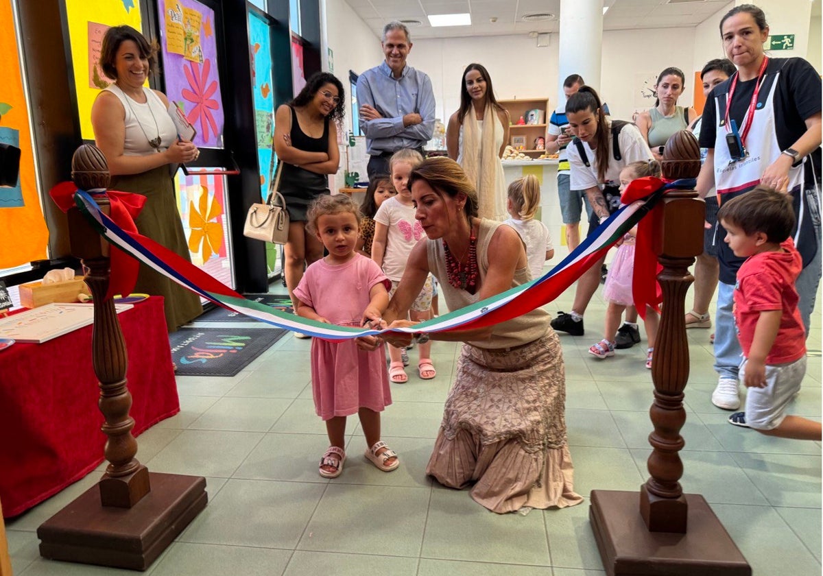
<svg viewBox="0 0 823 576">
<path fill-rule="evenodd" d="M 60 210 L 67 212 L 74 207 L 74 193 L 77 192 L 77 185 L 73 182 L 61 182 L 49 190 L 49 196 Z M 146 203 L 146 197 L 130 192 L 119 192 L 118 190 L 106 190 L 109 197 L 110 217 L 115 224 L 127 232 L 137 233 L 137 225 L 134 219 L 140 213 Z M 137 272 L 140 269 L 140 262 L 124 253 L 116 246 L 111 246 L 111 280 L 109 290 L 105 295 L 105 300 L 109 300 L 115 294 L 129 295 L 137 283 Z"/>
</svg>

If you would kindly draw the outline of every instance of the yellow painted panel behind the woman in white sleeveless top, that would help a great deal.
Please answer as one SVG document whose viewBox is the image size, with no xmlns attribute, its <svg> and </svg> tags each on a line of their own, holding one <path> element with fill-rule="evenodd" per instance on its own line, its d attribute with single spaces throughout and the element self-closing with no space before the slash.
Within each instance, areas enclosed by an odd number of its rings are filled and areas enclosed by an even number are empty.
<svg viewBox="0 0 823 576">
<path fill-rule="evenodd" d="M 68 38 L 72 44 L 74 91 L 80 133 L 84 140 L 94 140 L 91 128 L 91 105 L 100 90 L 113 81 L 100 69 L 100 47 L 111 26 L 126 24 L 142 31 L 140 2 L 133 0 L 66 0 Z"/>
</svg>

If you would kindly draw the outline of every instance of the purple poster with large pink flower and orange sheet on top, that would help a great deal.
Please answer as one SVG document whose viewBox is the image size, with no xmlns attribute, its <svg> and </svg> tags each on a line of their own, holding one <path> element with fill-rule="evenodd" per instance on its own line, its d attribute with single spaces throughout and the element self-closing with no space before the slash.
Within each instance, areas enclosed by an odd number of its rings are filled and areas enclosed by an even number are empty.
<svg viewBox="0 0 823 576">
<path fill-rule="evenodd" d="M 214 11 L 197 0 L 159 0 L 162 73 L 169 102 L 198 131 L 197 146 L 223 147 Z"/>
</svg>

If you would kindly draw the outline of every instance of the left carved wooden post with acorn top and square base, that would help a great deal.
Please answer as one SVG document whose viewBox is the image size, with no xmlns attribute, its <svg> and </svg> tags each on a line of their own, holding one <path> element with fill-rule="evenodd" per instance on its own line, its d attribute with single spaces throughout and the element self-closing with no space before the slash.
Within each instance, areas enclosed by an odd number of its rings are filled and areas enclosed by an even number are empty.
<svg viewBox="0 0 823 576">
<path fill-rule="evenodd" d="M 105 156 L 84 144 L 72 159 L 77 187 L 108 188 Z M 95 197 L 109 213 L 109 199 Z M 206 480 L 199 476 L 150 473 L 137 461 L 137 440 L 129 416 L 128 356 L 109 290 L 109 243 L 77 208 L 68 212 L 72 254 L 81 258 L 94 298 L 91 355 L 100 380 L 101 430 L 109 461 L 100 482 L 40 525 L 40 555 L 54 560 L 145 570 L 174 537 L 206 507 Z M 171 368 L 171 367 L 170 367 Z M 67 416 L 71 417 L 71 416 Z"/>
</svg>

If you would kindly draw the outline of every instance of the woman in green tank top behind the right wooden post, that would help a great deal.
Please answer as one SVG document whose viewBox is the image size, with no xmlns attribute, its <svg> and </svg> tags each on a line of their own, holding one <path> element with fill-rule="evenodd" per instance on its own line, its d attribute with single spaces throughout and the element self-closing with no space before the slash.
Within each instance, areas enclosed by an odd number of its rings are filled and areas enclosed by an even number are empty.
<svg viewBox="0 0 823 576">
<path fill-rule="evenodd" d="M 668 67 L 658 76 L 654 86 L 658 100 L 654 108 L 641 112 L 637 117 L 637 128 L 649 143 L 655 160 L 663 160 L 663 146 L 675 132 L 688 128 L 697 112 L 694 108 L 677 105 L 677 99 L 686 87 L 686 77 L 680 68 Z"/>
</svg>

